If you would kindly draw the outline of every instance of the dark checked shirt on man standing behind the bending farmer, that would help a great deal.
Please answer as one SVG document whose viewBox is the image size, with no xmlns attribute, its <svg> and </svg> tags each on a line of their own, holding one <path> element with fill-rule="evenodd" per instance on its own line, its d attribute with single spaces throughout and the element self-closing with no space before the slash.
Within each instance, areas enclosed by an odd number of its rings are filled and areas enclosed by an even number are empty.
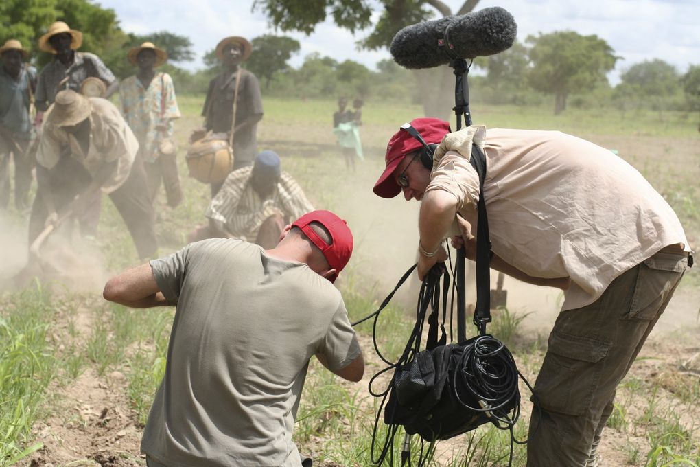
<svg viewBox="0 0 700 467">
<path fill-rule="evenodd" d="M 43 67 L 36 85 L 36 102 L 53 104 L 57 93 L 64 89 L 80 92 L 80 85 L 90 76 L 100 78 L 108 86 L 117 79 L 94 53 L 76 52 L 75 54 L 73 64 L 68 68 L 58 58 Z M 62 84 L 61 81 L 66 77 L 68 81 Z"/>
</svg>

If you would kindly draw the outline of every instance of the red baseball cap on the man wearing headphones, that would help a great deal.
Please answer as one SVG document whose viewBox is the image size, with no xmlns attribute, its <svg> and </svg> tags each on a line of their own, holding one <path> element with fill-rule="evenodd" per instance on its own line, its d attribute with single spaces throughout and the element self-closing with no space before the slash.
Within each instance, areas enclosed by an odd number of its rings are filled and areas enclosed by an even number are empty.
<svg viewBox="0 0 700 467">
<path fill-rule="evenodd" d="M 427 144 L 439 144 L 442 137 L 450 132 L 449 123 L 438 118 L 416 118 L 411 120 L 411 126 L 421 134 Z M 393 198 L 401 193 L 401 187 L 391 175 L 406 155 L 422 147 L 421 141 L 412 137 L 409 132 L 398 130 L 386 145 L 386 169 L 377 183 L 374 183 L 374 194 L 383 198 Z"/>
</svg>

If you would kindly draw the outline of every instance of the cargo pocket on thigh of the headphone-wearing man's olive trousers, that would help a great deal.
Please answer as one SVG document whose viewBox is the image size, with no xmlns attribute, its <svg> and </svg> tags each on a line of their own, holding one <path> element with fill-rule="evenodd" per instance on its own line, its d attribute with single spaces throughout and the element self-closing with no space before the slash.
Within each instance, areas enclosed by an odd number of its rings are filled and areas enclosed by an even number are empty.
<svg viewBox="0 0 700 467">
<path fill-rule="evenodd" d="M 582 415 L 598 386 L 610 342 L 552 331 L 531 400 L 543 409 Z"/>
</svg>

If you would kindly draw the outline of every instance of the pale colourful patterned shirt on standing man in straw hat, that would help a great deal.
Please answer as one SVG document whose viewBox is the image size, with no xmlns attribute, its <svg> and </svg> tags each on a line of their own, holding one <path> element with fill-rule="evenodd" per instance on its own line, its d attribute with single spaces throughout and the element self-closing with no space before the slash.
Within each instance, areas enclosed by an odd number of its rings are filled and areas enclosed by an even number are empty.
<svg viewBox="0 0 700 467">
<path fill-rule="evenodd" d="M 148 88 L 136 75 L 121 82 L 119 100 L 122 114 L 139 140 L 139 154 L 144 162 L 158 159 L 158 142 L 172 138 L 174 118 L 180 118 L 175 88 L 167 73 L 153 76 Z M 157 130 L 158 125 L 165 130 Z"/>
</svg>

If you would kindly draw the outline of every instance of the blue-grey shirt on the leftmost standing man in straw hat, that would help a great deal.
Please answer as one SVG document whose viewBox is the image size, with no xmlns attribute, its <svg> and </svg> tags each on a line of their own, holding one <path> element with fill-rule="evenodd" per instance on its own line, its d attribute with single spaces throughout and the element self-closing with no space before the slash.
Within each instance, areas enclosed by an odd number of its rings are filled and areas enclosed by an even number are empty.
<svg viewBox="0 0 700 467">
<path fill-rule="evenodd" d="M 15 81 L 15 78 L 0 66 L 0 125 L 20 139 L 31 137 L 30 86 L 32 91 L 36 88 L 34 67 L 23 68 Z"/>
</svg>

